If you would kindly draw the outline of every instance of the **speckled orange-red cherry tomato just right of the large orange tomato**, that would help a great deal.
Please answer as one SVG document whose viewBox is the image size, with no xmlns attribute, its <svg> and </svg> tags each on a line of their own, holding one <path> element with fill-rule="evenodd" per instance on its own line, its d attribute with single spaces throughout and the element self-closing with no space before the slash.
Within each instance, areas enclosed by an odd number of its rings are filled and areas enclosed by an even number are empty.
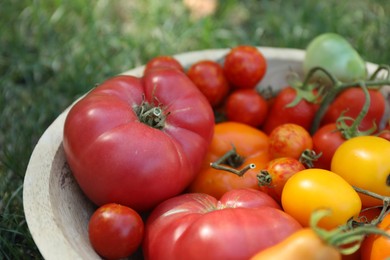
<svg viewBox="0 0 390 260">
<path fill-rule="evenodd" d="M 313 149 L 309 132 L 297 124 L 282 124 L 269 135 L 271 158 L 292 157 L 299 159 L 305 150 Z"/>
</svg>

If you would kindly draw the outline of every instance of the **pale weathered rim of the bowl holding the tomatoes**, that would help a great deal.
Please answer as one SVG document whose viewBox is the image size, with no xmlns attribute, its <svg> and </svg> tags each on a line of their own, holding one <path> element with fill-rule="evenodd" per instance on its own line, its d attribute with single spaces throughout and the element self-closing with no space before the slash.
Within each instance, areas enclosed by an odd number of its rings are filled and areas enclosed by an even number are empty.
<svg viewBox="0 0 390 260">
<path fill-rule="evenodd" d="M 261 46 L 257 48 L 262 51 L 266 59 L 285 60 L 288 58 L 291 61 L 302 62 L 305 55 L 305 51 L 301 49 Z M 229 48 L 197 50 L 173 56 L 184 67 L 188 67 L 199 60 L 223 58 L 229 50 Z M 373 63 L 367 63 L 369 71 L 373 71 L 376 66 Z M 140 77 L 144 67 L 145 65 L 138 66 L 120 74 Z M 56 223 L 49 189 L 53 158 L 62 146 L 64 122 L 69 110 L 77 101 L 78 99 L 60 113 L 44 131 L 31 154 L 24 177 L 23 207 L 26 222 L 35 244 L 45 259 L 57 259 L 59 256 L 63 259 L 81 259 Z"/>
</svg>

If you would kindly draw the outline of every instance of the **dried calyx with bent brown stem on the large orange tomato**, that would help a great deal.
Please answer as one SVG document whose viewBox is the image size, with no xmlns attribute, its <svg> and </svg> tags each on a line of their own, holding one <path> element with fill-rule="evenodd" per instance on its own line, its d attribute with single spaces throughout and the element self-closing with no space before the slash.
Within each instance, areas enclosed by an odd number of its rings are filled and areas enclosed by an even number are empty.
<svg viewBox="0 0 390 260">
<path fill-rule="evenodd" d="M 233 147 L 231 150 L 227 151 L 217 161 L 210 163 L 210 166 L 217 170 L 234 173 L 240 177 L 243 176 L 248 170 L 256 168 L 254 163 L 250 163 L 241 170 L 237 170 L 238 167 L 242 166 L 245 159 L 237 153 L 235 146 L 232 146 Z"/>
</svg>

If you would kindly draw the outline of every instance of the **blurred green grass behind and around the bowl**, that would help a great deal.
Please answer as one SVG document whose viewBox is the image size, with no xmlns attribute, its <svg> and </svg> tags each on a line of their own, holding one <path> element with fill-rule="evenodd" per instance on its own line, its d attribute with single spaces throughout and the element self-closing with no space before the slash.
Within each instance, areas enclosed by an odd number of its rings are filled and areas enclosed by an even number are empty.
<svg viewBox="0 0 390 260">
<path fill-rule="evenodd" d="M 0 259 L 41 258 L 23 212 L 29 157 L 61 111 L 105 78 L 159 54 L 305 48 L 328 31 L 368 61 L 390 61 L 388 0 L 220 3 L 215 15 L 191 20 L 180 0 L 0 2 Z"/>
</svg>

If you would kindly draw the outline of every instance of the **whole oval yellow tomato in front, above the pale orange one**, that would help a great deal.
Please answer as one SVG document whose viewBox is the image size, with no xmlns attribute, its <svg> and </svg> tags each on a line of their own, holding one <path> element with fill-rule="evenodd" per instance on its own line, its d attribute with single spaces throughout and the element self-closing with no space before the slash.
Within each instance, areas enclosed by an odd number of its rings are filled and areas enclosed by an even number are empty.
<svg viewBox="0 0 390 260">
<path fill-rule="evenodd" d="M 319 227 L 336 228 L 357 216 L 362 204 L 357 192 L 339 175 L 323 169 L 306 169 L 287 180 L 282 192 L 285 212 L 308 227 L 311 214 L 330 209 L 332 214 L 321 219 Z"/>
</svg>

